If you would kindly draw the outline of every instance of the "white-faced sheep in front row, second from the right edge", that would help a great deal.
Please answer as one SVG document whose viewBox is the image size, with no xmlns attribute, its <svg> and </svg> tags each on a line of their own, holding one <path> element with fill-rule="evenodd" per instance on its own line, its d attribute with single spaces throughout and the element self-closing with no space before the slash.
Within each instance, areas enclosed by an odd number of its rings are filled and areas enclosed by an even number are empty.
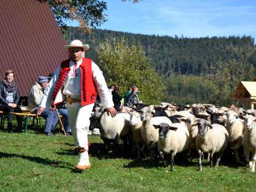
<svg viewBox="0 0 256 192">
<path fill-rule="evenodd" d="M 238 149 L 242 145 L 244 122 L 239 119 L 239 116 L 234 111 L 226 112 L 226 129 L 229 132 L 229 145 L 234 148 L 234 156 L 236 162 L 239 162 Z"/>
</svg>

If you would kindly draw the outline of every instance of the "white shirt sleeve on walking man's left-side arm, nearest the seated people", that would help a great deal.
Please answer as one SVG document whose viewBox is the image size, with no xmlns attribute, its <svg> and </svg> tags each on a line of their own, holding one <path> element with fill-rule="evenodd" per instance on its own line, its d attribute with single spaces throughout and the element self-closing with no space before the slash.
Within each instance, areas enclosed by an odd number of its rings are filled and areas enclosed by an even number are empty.
<svg viewBox="0 0 256 192">
<path fill-rule="evenodd" d="M 59 79 L 59 74 L 61 73 L 61 65 L 58 66 L 54 76 L 52 76 L 51 81 L 48 83 L 47 88 L 44 91 L 44 96 L 42 97 L 41 103 L 39 106 L 43 108 L 50 108 L 53 101 L 53 93 L 56 87 L 56 83 Z"/>
</svg>

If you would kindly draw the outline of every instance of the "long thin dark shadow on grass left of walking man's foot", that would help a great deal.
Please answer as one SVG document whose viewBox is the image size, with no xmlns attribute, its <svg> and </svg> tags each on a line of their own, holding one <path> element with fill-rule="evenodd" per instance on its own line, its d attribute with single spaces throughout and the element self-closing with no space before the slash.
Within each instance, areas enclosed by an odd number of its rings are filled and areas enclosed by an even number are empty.
<svg viewBox="0 0 256 192">
<path fill-rule="evenodd" d="M 50 160 L 50 159 L 43 159 L 40 157 L 30 157 L 26 155 L 19 155 L 19 154 L 8 154 L 5 152 L 0 152 L 0 158 L 22 158 L 22 159 L 27 159 L 31 162 L 36 162 L 42 165 L 50 165 L 55 168 L 67 168 L 70 169 L 70 166 L 72 166 L 70 163 L 67 162 L 62 162 L 62 161 L 55 161 L 55 160 Z M 64 166 L 63 164 L 67 165 Z"/>
</svg>

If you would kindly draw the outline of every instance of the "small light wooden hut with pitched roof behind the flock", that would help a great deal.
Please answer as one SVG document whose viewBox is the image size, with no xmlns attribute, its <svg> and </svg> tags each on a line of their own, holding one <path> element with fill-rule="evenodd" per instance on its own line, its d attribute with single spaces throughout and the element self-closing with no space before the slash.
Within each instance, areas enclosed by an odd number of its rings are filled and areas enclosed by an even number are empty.
<svg viewBox="0 0 256 192">
<path fill-rule="evenodd" d="M 238 100 L 243 108 L 251 105 L 251 109 L 254 109 L 254 104 L 256 104 L 256 81 L 241 81 L 233 92 L 233 98 Z"/>
</svg>

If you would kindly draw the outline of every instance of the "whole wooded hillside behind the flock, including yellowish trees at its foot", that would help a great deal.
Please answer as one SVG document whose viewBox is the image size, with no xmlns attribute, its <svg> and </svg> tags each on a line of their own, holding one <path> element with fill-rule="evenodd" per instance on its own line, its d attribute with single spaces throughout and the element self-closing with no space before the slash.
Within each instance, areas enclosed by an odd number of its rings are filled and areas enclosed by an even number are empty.
<svg viewBox="0 0 256 192">
<path fill-rule="evenodd" d="M 86 55 L 98 62 L 95 49 L 99 44 L 106 39 L 119 41 L 122 37 L 130 44 L 140 44 L 163 77 L 163 84 L 159 84 L 166 87 L 162 101 L 229 106 L 234 102 L 232 93 L 237 84 L 255 78 L 256 48 L 250 36 L 183 38 L 93 30 L 88 37 L 70 27 L 66 42 L 80 39 L 89 44 Z"/>
</svg>

